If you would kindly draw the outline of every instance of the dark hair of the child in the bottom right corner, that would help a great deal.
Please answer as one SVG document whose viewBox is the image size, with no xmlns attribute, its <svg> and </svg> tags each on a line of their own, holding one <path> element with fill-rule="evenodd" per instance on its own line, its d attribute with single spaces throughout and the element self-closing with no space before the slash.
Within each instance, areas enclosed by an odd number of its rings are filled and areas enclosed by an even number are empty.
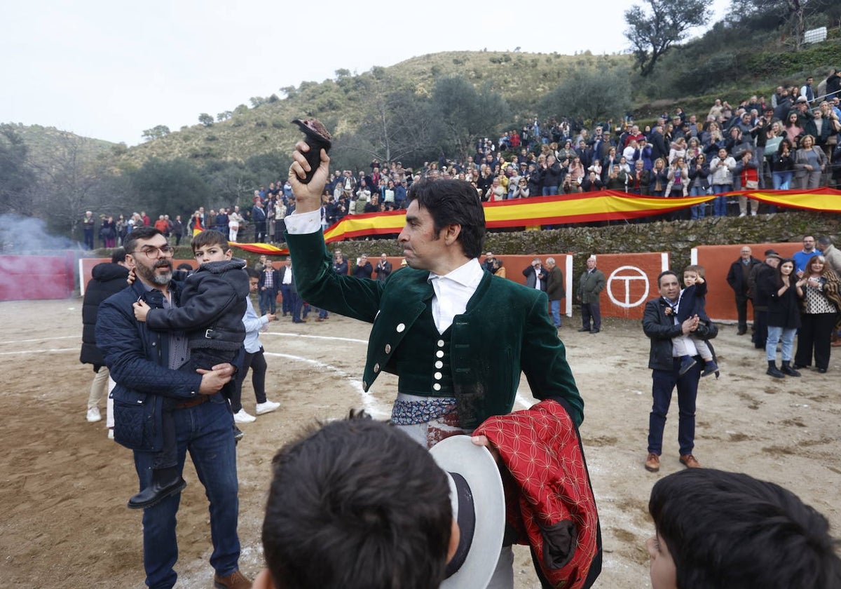
<svg viewBox="0 0 841 589">
<path fill-rule="evenodd" d="M 657 481 L 648 512 L 680 589 L 838 587 L 838 540 L 826 517 L 779 485 L 688 469 Z"/>
</svg>

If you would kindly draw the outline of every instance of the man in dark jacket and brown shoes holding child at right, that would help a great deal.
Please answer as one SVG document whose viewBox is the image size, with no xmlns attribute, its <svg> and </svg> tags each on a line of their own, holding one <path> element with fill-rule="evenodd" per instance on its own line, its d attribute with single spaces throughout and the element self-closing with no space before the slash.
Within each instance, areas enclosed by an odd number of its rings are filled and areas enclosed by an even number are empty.
<svg viewBox="0 0 841 589">
<path fill-rule="evenodd" d="M 671 270 L 657 277 L 660 296 L 649 300 L 643 312 L 643 332 L 651 343 L 648 368 L 651 369 L 653 404 L 648 417 L 648 457 L 645 470 L 660 470 L 660 454 L 663 454 L 663 430 L 666 415 L 675 386 L 678 390 L 678 444 L 680 464 L 687 468 L 699 468 L 701 464 L 692 454 L 695 449 L 695 407 L 698 395 L 698 381 L 701 379 L 701 363 L 696 362 L 680 374 L 680 357 L 675 356 L 672 338 L 694 334 L 706 338 L 708 326 L 699 321 L 697 315 L 678 322 L 680 308 L 680 282 Z M 691 340 L 687 345 L 694 348 Z M 690 353 L 693 351 L 690 348 Z M 691 354 L 696 356 L 696 353 Z M 700 356 L 697 357 L 700 359 Z"/>
</svg>

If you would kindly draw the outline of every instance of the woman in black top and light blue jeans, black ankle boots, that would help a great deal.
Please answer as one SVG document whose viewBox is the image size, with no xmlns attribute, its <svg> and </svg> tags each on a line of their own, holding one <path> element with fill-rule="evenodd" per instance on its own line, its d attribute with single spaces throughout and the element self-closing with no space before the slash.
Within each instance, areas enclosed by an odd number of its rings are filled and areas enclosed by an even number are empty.
<svg viewBox="0 0 841 589">
<path fill-rule="evenodd" d="M 768 297 L 768 340 L 765 342 L 765 359 L 768 370 L 765 374 L 775 379 L 788 376 L 800 376 L 791 366 L 791 350 L 794 348 L 794 335 L 801 326 L 800 299 L 806 279 L 797 279 L 794 273 L 794 260 L 780 260 L 775 273 L 771 274 L 759 288 Z M 782 342 L 782 367 L 777 368 L 777 343 Z"/>
</svg>

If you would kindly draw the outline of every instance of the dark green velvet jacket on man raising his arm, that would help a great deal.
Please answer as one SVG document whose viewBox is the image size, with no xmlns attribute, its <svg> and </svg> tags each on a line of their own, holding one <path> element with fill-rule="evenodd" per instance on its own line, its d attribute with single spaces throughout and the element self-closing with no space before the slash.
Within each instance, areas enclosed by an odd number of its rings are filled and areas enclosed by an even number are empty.
<svg viewBox="0 0 841 589">
<path fill-rule="evenodd" d="M 362 388 L 368 390 L 383 370 L 397 373 L 396 363 L 389 360 L 431 303 L 429 272 L 400 268 L 384 282 L 341 276 L 333 272 L 320 231 L 286 238 L 303 300 L 373 323 Z M 462 427 L 473 429 L 487 417 L 509 413 L 521 372 L 535 398 L 569 401 L 575 425 L 580 425 L 584 401 L 547 305 L 546 293 L 484 273 L 451 328 L 452 383 Z M 427 358 L 418 362 L 426 363 Z"/>
</svg>

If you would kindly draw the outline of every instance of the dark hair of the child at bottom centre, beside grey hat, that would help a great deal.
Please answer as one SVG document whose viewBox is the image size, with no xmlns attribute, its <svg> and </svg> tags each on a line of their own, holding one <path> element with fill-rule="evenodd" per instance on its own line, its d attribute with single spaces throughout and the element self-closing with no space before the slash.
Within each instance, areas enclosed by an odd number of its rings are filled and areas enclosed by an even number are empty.
<svg viewBox="0 0 841 589">
<path fill-rule="evenodd" d="M 431 454 L 386 423 L 330 422 L 272 460 L 262 543 L 278 589 L 434 589 L 452 507 Z"/>
</svg>

